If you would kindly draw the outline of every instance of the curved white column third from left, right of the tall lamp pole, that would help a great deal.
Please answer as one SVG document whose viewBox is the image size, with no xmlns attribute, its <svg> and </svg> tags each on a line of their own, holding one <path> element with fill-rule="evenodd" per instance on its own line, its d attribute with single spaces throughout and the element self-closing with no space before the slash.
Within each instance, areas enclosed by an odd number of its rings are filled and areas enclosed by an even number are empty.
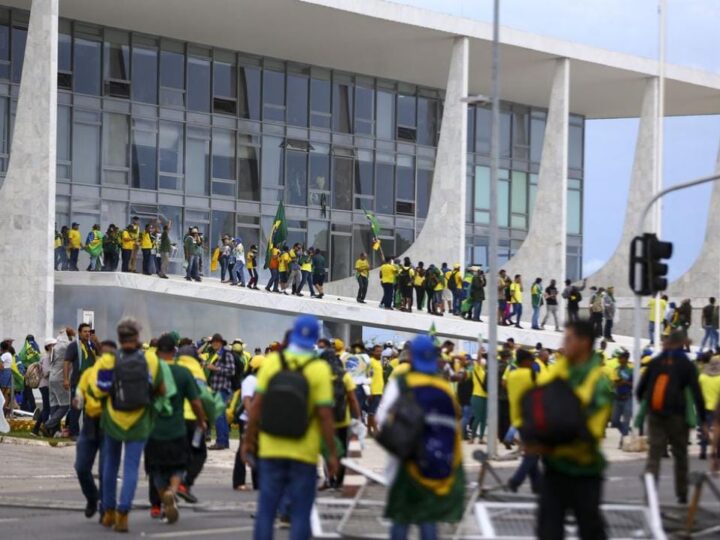
<svg viewBox="0 0 720 540">
<path fill-rule="evenodd" d="M 521 274 L 525 294 L 525 319 L 530 308 L 530 286 L 542 277 L 547 286 L 551 279 L 558 289 L 565 280 L 567 243 L 567 161 L 568 122 L 570 120 L 570 61 L 559 58 L 555 64 L 550 91 L 550 105 L 542 161 L 538 175 L 538 190 L 530 228 L 515 256 L 504 265 L 510 277 Z"/>
</svg>

